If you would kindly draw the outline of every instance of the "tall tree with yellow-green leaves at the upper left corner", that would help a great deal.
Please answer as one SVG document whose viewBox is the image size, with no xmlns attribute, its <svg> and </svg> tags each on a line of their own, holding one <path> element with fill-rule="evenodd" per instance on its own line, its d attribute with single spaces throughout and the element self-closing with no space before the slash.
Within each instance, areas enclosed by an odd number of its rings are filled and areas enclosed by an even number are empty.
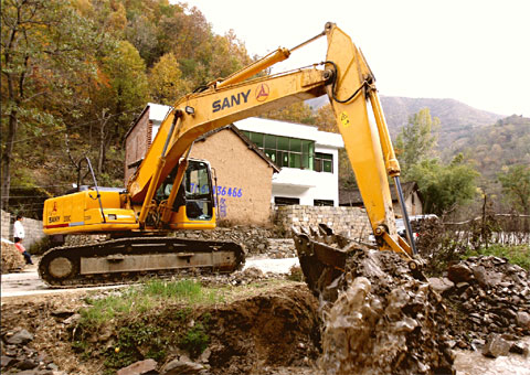
<svg viewBox="0 0 530 375">
<path fill-rule="evenodd" d="M 89 52 L 99 44 L 91 23 L 71 1 L 2 1 L 3 207 L 9 204 L 14 144 L 21 144 L 18 137 L 63 127 L 61 113 L 75 108 L 68 107 L 80 99 L 78 78 L 94 72 Z"/>
</svg>

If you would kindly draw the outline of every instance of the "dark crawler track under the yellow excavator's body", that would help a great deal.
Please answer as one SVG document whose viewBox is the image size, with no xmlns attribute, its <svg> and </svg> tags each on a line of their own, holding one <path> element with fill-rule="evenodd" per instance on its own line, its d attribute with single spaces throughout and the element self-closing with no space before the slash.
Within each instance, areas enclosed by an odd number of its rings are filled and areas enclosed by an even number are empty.
<svg viewBox="0 0 530 375">
<path fill-rule="evenodd" d="M 244 259 L 241 245 L 231 242 L 120 238 L 53 248 L 43 255 L 39 276 L 52 288 L 108 286 L 189 270 L 232 272 L 243 266 Z"/>
</svg>

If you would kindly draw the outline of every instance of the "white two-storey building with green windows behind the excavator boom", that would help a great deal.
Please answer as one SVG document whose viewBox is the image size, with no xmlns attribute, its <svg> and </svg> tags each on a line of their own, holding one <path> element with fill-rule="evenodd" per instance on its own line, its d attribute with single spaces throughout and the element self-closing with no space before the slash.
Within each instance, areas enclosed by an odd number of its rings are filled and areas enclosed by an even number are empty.
<svg viewBox="0 0 530 375">
<path fill-rule="evenodd" d="M 340 135 L 255 117 L 234 125 L 282 168 L 273 175 L 275 204 L 339 205 Z"/>
</svg>

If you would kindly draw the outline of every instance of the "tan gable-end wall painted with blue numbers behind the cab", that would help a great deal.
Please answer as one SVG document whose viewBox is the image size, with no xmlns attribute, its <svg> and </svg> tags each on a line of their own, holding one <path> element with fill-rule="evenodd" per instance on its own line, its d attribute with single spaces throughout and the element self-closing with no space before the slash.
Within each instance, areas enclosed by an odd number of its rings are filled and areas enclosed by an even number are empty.
<svg viewBox="0 0 530 375">
<path fill-rule="evenodd" d="M 220 193 L 218 221 L 271 224 L 273 169 L 232 130 L 224 129 L 195 142 L 191 157 L 210 161 L 215 170 Z"/>
</svg>

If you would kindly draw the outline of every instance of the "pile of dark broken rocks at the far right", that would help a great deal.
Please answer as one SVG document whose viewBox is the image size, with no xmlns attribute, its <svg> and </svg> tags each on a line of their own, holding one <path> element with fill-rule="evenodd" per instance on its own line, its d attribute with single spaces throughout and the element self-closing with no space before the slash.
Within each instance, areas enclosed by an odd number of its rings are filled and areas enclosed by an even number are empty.
<svg viewBox="0 0 530 375">
<path fill-rule="evenodd" d="M 449 333 L 462 349 L 530 334 L 530 279 L 521 267 L 494 256 L 470 257 L 447 269 L 431 286 L 448 301 Z M 488 339 L 489 338 L 489 339 Z"/>
</svg>

